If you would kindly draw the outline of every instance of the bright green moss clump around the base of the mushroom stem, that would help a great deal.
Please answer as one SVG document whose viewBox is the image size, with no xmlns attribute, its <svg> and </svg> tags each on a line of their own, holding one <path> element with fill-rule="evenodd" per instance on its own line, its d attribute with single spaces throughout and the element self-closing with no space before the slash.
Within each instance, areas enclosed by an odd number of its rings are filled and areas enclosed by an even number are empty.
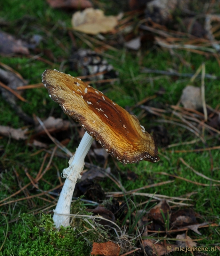
<svg viewBox="0 0 220 256">
<path fill-rule="evenodd" d="M 75 206 L 83 210 L 79 201 Z M 74 206 L 72 209 L 74 212 L 77 210 Z M 77 218 L 77 227 L 61 227 L 56 230 L 51 215 L 43 214 L 40 219 L 37 219 L 31 214 L 23 214 L 16 224 L 10 225 L 0 256 L 89 255 L 93 241 L 103 242 L 105 232 L 97 226 L 98 231 L 94 230 L 88 222 L 93 221 Z M 92 225 L 96 224 L 93 222 Z M 4 241 L 5 229 L 5 226 L 0 227 L 0 244 Z"/>
</svg>

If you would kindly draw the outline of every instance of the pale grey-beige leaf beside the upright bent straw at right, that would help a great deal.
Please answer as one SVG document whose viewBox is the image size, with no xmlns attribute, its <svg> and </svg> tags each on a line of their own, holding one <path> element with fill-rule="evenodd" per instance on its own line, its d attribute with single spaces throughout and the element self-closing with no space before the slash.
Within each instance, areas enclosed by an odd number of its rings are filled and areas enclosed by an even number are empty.
<svg viewBox="0 0 220 256">
<path fill-rule="evenodd" d="M 187 85 L 181 95 L 181 103 L 184 108 L 200 109 L 202 108 L 202 97 L 200 87 Z"/>
</svg>

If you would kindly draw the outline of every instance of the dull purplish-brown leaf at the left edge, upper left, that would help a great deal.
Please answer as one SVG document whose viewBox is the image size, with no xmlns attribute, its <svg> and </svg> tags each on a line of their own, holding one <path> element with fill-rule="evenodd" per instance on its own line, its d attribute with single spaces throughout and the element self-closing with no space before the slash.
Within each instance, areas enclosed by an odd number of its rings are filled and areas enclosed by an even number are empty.
<svg viewBox="0 0 220 256">
<path fill-rule="evenodd" d="M 29 54 L 29 50 L 26 42 L 20 39 L 15 39 L 14 36 L 0 31 L 0 53 Z"/>
</svg>

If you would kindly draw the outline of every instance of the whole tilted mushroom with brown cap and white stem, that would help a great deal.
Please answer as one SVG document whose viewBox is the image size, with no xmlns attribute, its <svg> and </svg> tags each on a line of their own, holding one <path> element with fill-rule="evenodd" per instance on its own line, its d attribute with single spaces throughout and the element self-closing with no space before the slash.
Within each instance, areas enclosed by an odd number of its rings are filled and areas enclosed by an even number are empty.
<svg viewBox="0 0 220 256">
<path fill-rule="evenodd" d="M 102 92 L 56 69 L 47 69 L 42 82 L 49 97 L 59 103 L 64 113 L 71 116 L 86 130 L 69 167 L 62 176 L 66 178 L 54 210 L 57 228 L 69 226 L 70 204 L 77 179 L 81 178 L 84 158 L 93 140 L 97 140 L 118 161 L 137 163 L 141 160 L 160 160 L 153 137 L 140 125 L 138 118 L 107 98 Z"/>
</svg>

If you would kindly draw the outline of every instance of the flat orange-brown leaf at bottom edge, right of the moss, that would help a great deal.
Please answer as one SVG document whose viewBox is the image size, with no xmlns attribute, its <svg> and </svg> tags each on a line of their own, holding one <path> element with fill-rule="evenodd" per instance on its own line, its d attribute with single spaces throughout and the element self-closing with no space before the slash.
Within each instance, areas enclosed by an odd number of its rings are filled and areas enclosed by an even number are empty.
<svg viewBox="0 0 220 256">
<path fill-rule="evenodd" d="M 119 256 L 120 246 L 111 241 L 106 243 L 93 243 L 91 255 Z"/>
</svg>

